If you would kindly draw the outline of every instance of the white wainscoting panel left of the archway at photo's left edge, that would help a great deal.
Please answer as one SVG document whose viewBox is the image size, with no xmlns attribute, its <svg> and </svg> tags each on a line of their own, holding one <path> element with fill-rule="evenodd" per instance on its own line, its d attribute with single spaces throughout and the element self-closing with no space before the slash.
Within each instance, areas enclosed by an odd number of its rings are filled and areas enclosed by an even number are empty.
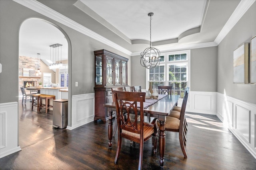
<svg viewBox="0 0 256 170">
<path fill-rule="evenodd" d="M 20 151 L 18 102 L 0 104 L 0 158 Z"/>
</svg>

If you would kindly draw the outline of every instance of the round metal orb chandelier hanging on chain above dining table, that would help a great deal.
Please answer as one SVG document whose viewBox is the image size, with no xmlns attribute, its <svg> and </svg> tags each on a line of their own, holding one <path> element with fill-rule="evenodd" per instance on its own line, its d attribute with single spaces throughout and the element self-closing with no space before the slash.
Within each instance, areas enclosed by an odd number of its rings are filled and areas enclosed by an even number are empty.
<svg viewBox="0 0 256 170">
<path fill-rule="evenodd" d="M 153 12 L 148 13 L 148 16 L 150 16 L 150 47 L 146 48 L 143 52 L 140 53 L 140 64 L 148 69 L 154 68 L 160 64 L 160 51 L 154 47 L 151 47 L 151 20 L 153 15 Z"/>
</svg>

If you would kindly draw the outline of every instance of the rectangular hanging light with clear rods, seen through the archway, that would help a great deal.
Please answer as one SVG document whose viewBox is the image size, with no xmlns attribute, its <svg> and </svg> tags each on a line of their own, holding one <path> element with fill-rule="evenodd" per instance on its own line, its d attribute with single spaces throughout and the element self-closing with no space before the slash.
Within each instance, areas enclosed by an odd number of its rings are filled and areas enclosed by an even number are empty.
<svg viewBox="0 0 256 170">
<path fill-rule="evenodd" d="M 50 69 L 60 68 L 63 65 L 61 62 L 61 46 L 61 44 L 50 45 L 50 60 L 52 61 L 52 64 L 49 65 Z"/>
</svg>

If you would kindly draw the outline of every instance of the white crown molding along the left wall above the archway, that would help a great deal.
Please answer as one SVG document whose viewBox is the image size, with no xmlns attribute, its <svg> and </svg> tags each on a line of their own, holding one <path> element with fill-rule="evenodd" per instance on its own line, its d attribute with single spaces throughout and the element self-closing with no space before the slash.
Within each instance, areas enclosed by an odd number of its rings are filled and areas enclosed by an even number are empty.
<svg viewBox="0 0 256 170">
<path fill-rule="evenodd" d="M 63 25 L 66 25 L 76 31 L 79 31 L 80 33 L 87 35 L 97 41 L 100 41 L 106 45 L 109 45 L 110 47 L 113 47 L 114 49 L 117 49 L 118 51 L 121 51 L 127 55 L 132 54 L 131 51 L 128 51 L 124 47 L 121 47 L 120 45 L 110 41 L 109 39 L 106 39 L 105 37 L 99 35 L 98 33 L 95 33 L 94 31 L 92 31 L 92 30 L 84 27 L 83 25 L 71 20 L 70 18 L 52 10 L 48 6 L 45 6 L 44 4 L 42 4 L 36 0 L 13 0 L 13 1 L 25 6 L 31 10 L 34 10 L 35 12 L 38 12 L 39 14 L 42 14 L 48 18 L 51 18 L 52 20 L 58 21 L 59 23 L 62 23 Z"/>
</svg>

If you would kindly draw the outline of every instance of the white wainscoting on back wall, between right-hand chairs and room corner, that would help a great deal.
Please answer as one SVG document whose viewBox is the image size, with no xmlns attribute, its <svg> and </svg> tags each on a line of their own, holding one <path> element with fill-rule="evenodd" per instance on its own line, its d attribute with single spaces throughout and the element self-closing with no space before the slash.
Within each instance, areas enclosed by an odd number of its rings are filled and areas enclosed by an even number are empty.
<svg viewBox="0 0 256 170">
<path fill-rule="evenodd" d="M 216 107 L 216 92 L 189 92 L 186 111 L 216 115 Z"/>
</svg>

